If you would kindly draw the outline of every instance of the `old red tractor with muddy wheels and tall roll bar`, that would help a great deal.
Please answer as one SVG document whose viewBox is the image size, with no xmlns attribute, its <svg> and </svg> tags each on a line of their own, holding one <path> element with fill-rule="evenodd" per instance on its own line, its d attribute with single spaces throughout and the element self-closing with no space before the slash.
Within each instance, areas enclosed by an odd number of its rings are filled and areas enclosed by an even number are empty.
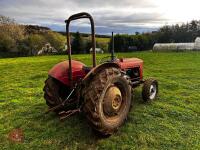
<svg viewBox="0 0 200 150">
<path fill-rule="evenodd" d="M 88 18 L 91 23 L 92 67 L 71 59 L 69 25 L 81 18 Z M 157 96 L 158 82 L 152 78 L 143 80 L 143 60 L 117 59 L 114 46 L 111 56 L 102 58 L 97 65 L 94 20 L 90 14 L 74 14 L 65 23 L 68 60 L 56 64 L 48 73 L 43 89 L 47 112 L 58 113 L 60 119 L 83 112 L 95 131 L 111 135 L 128 116 L 133 89 L 143 84 L 142 98 L 151 102 Z"/>
</svg>

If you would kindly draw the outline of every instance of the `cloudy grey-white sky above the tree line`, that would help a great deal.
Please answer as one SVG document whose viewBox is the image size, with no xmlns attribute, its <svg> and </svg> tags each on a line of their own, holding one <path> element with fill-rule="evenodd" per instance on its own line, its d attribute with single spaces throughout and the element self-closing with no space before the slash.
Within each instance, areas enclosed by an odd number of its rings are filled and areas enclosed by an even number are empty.
<svg viewBox="0 0 200 150">
<path fill-rule="evenodd" d="M 21 24 L 65 31 L 65 19 L 74 13 L 88 12 L 98 34 L 134 34 L 200 20 L 199 6 L 200 0 L 0 0 L 0 15 Z M 70 29 L 89 33 L 89 21 L 74 21 Z"/>
</svg>

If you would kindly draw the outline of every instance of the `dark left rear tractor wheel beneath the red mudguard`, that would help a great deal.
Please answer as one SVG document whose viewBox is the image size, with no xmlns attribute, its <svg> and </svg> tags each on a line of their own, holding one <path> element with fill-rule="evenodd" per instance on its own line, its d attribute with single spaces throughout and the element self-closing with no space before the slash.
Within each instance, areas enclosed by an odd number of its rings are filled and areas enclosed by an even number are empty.
<svg viewBox="0 0 200 150">
<path fill-rule="evenodd" d="M 50 76 L 45 81 L 43 91 L 46 104 L 50 108 L 62 103 L 69 94 L 69 88 Z"/>
</svg>

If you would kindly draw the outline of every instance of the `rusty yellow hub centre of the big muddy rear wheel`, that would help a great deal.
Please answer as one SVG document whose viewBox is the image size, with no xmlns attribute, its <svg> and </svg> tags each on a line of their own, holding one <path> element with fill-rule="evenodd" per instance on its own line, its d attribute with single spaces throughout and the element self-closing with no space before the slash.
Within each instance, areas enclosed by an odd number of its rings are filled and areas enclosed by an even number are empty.
<svg viewBox="0 0 200 150">
<path fill-rule="evenodd" d="M 111 86 L 106 92 L 104 98 L 104 112 L 107 115 L 113 115 L 118 112 L 122 104 L 122 95 L 121 91 L 116 86 Z"/>
</svg>

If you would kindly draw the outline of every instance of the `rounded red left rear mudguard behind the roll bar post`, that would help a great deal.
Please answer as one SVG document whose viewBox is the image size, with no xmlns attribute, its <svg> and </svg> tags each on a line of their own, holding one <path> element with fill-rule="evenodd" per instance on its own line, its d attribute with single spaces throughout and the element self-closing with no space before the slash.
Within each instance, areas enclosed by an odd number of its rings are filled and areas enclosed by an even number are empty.
<svg viewBox="0 0 200 150">
<path fill-rule="evenodd" d="M 80 78 L 86 75 L 83 67 L 85 64 L 81 63 L 80 61 L 72 60 L 72 79 L 73 81 L 78 81 Z M 55 79 L 61 81 L 65 85 L 69 84 L 69 62 L 63 61 L 56 64 L 51 70 L 49 70 L 49 75 L 54 77 Z"/>
</svg>

